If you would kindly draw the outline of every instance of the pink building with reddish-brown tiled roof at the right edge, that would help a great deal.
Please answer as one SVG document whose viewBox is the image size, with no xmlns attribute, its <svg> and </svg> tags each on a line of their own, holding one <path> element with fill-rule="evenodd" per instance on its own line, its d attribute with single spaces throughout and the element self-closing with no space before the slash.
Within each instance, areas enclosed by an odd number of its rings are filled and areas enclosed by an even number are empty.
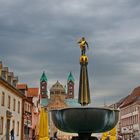
<svg viewBox="0 0 140 140">
<path fill-rule="evenodd" d="M 120 133 L 123 140 L 140 137 L 140 87 L 120 105 Z"/>
</svg>

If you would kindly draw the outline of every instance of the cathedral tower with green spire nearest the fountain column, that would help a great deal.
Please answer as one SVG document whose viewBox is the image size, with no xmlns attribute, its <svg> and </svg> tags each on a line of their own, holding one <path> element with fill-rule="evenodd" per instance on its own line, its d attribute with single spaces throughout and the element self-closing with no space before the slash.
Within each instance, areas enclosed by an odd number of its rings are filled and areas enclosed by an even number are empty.
<svg viewBox="0 0 140 140">
<path fill-rule="evenodd" d="M 74 77 L 70 72 L 67 79 L 67 99 L 74 99 Z"/>
</svg>

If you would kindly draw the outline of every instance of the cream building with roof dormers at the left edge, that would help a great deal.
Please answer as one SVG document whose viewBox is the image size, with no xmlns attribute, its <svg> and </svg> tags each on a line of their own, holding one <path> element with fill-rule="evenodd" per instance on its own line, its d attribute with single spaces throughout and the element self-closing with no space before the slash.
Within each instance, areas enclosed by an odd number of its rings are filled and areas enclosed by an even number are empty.
<svg viewBox="0 0 140 140">
<path fill-rule="evenodd" d="M 0 62 L 0 140 L 9 140 L 10 131 L 14 129 L 16 140 L 21 140 L 22 98 L 16 88 L 17 79 L 8 67 Z"/>
</svg>

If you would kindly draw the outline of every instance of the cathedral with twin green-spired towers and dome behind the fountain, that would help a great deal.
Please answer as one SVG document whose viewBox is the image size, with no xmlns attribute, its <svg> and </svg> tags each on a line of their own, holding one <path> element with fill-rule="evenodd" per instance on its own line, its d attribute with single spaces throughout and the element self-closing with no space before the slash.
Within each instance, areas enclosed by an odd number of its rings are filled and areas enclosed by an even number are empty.
<svg viewBox="0 0 140 140">
<path fill-rule="evenodd" d="M 67 87 L 67 88 L 66 88 Z M 40 104 L 47 111 L 70 107 L 77 102 L 74 99 L 74 77 L 70 72 L 67 78 L 67 86 L 63 86 L 59 81 L 51 86 L 48 92 L 48 78 L 43 72 L 40 78 Z M 50 137 L 53 137 L 58 129 L 54 126 L 49 112 Z"/>
</svg>

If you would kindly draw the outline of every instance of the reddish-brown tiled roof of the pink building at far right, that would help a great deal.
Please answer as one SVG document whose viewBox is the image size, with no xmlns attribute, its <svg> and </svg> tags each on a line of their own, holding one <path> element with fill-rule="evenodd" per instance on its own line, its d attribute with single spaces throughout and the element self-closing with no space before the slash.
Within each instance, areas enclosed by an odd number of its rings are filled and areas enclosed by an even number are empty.
<svg viewBox="0 0 140 140">
<path fill-rule="evenodd" d="M 121 105 L 121 108 L 134 103 L 138 97 L 140 97 L 140 86 L 136 87 L 125 99 L 124 103 Z"/>
</svg>

